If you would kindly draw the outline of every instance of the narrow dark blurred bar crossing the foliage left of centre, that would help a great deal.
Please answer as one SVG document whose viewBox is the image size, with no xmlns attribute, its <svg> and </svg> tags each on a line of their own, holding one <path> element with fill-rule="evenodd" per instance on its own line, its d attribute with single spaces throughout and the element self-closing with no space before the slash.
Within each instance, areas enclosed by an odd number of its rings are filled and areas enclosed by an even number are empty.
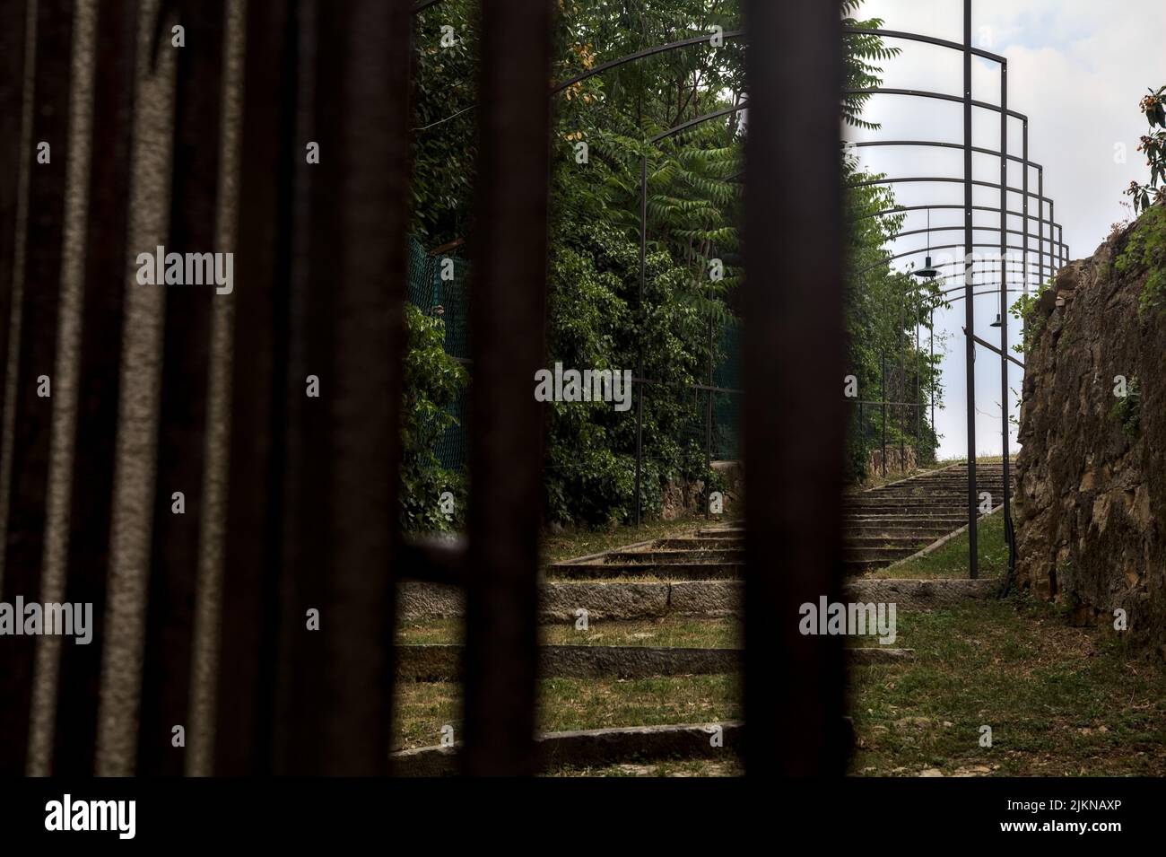
<svg viewBox="0 0 1166 857">
<path fill-rule="evenodd" d="M 468 774 L 532 774 L 538 680 L 550 0 L 491 0 L 482 19 L 477 367 L 466 585 Z M 515 50 L 514 45 L 522 45 Z M 641 387 L 642 391 L 642 387 Z M 641 393 L 642 394 L 642 393 Z"/>
</svg>

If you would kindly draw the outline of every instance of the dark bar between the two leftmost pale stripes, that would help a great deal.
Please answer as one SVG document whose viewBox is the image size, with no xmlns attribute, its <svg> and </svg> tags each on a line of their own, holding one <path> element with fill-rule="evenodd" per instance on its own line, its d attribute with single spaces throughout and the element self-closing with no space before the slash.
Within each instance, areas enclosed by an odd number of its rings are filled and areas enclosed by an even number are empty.
<svg viewBox="0 0 1166 857">
<path fill-rule="evenodd" d="M 69 92 L 72 82 L 73 3 L 44 0 L 36 5 L 35 69 L 33 70 L 33 148 L 28 159 L 28 226 L 26 231 L 20 340 L 15 353 L 14 389 L 6 391 L 13 408 L 8 520 L 0 600 L 41 596 L 44 554 L 49 444 L 52 434 L 51 382 L 56 367 L 61 295 L 61 251 L 64 230 L 65 166 L 69 162 Z M 31 45 L 29 45 L 31 50 Z M 20 76 L 23 79 L 23 73 Z M 38 145 L 48 163 L 38 161 Z M 5 319 L 6 322 L 8 319 Z M 45 381 L 49 386 L 44 386 Z M 21 775 L 28 752 L 35 635 L 12 637 L 0 646 L 0 775 Z"/>
</svg>

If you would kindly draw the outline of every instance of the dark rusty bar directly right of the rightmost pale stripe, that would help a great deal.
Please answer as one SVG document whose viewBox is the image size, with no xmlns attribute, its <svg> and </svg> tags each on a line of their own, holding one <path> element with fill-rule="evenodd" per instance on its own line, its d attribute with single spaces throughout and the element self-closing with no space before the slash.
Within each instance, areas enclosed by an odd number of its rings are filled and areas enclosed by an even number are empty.
<svg viewBox="0 0 1166 857">
<path fill-rule="evenodd" d="M 215 773 L 269 774 L 281 569 L 296 3 L 248 0 Z"/>
</svg>

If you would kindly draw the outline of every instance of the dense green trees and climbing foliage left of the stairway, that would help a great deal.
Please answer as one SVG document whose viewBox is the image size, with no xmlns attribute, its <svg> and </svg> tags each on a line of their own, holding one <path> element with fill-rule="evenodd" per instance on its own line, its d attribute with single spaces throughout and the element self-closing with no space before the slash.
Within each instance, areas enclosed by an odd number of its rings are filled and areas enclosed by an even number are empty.
<svg viewBox="0 0 1166 857">
<path fill-rule="evenodd" d="M 840 6 L 849 27 L 881 24 L 856 19 L 857 0 Z M 555 80 L 649 45 L 711 36 L 716 27 L 724 33 L 743 27 L 739 0 L 560 0 L 559 9 Z M 445 0 L 414 20 L 413 229 L 433 248 L 469 231 L 479 100 L 477 3 Z M 441 27 L 447 24 L 455 30 L 454 47 L 441 44 Z M 848 35 L 845 89 L 878 86 L 878 63 L 897 54 L 874 35 Z M 662 507 L 669 482 L 702 482 L 705 493 L 721 486 L 707 468 L 703 448 L 707 394 L 693 385 L 710 380 L 725 358 L 719 352 L 725 331 L 742 324 L 736 312 L 743 279 L 742 113 L 649 141 L 682 122 L 743 104 L 744 58 L 742 40 L 696 44 L 596 75 L 567 87 L 553 103 L 548 366 L 560 361 L 567 368 L 632 370 L 653 381 L 642 387 L 642 508 L 648 515 Z M 845 121 L 872 127 L 861 118 L 868 99 L 863 93 L 845 96 Z M 642 295 L 641 163 L 647 173 Z M 885 261 L 881 247 L 902 217 L 870 215 L 892 205 L 885 188 L 852 194 L 855 269 Z M 859 219 L 859 211 L 866 219 Z M 887 382 L 887 398 L 905 396 L 908 389 L 915 395 L 918 386 L 926 400 L 939 387 L 937 359 L 922 356 L 921 363 L 908 342 L 916 310 L 923 312 L 934 300 L 911 278 L 881 267 L 851 278 L 848 329 L 859 343 L 855 365 L 865 393 L 878 388 L 884 353 L 892 363 L 901 357 L 905 366 L 920 365 L 919 384 L 913 368 L 895 374 Z M 906 310 L 901 318 L 899 309 Z M 410 325 L 421 322 L 429 319 L 412 319 Z M 410 360 L 412 349 L 437 347 L 440 337 L 427 329 L 421 340 L 428 345 L 410 346 Z M 410 528 L 444 526 L 426 515 L 433 514 L 435 491 L 448 486 L 451 476 L 435 470 L 433 457 L 423 455 L 422 433 L 431 441 L 442 422 L 452 419 L 449 391 L 441 385 L 430 389 L 429 377 L 440 366 L 441 372 L 454 368 L 442 366 L 436 352 L 422 364 L 415 364 L 417 381 L 410 382 L 420 406 L 408 451 Z M 631 518 L 634 406 L 617 412 L 610 402 L 549 402 L 547 413 L 548 518 L 590 525 Z M 925 427 L 925 436 L 934 448 L 934 431 Z"/>
</svg>

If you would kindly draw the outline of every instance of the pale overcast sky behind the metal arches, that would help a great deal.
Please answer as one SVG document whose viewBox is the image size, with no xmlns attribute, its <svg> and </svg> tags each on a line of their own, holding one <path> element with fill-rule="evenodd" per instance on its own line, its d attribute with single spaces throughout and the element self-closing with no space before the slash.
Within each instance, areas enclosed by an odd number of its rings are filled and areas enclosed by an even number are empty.
<svg viewBox="0 0 1166 857">
<path fill-rule="evenodd" d="M 962 0 L 866 0 L 858 13 L 863 17 L 884 19 L 884 28 L 920 33 L 955 42 L 963 41 Z M 1138 101 L 1151 86 L 1166 84 L 1166 0 L 976 0 L 974 43 L 1009 61 L 1009 107 L 1028 117 L 1028 157 L 1045 168 L 1045 196 L 1055 201 L 1056 220 L 1065 229 L 1070 259 L 1091 255 L 1105 239 L 1111 224 L 1130 212 L 1122 202 L 1122 191 L 1131 181 L 1145 182 L 1149 170 L 1145 157 L 1137 152 L 1138 138 L 1146 133 L 1146 121 L 1138 112 Z M 962 55 L 916 42 L 891 40 L 902 47 L 902 54 L 885 64 L 884 86 L 962 94 Z M 999 66 L 988 61 L 974 63 L 972 97 L 999 104 Z M 848 132 L 856 141 L 864 140 L 934 140 L 963 141 L 963 107 L 960 104 L 902 96 L 876 96 L 870 100 L 865 118 L 881 122 L 877 132 Z M 974 143 L 999 149 L 1000 122 L 997 113 L 974 111 Z M 1009 152 L 1021 152 L 1023 126 L 1011 120 Z M 1124 162 L 1122 148 L 1124 147 Z M 870 147 L 858 149 L 863 164 L 891 177 L 951 176 L 962 177 L 963 155 L 955 149 Z M 999 160 L 985 155 L 975 157 L 975 178 L 999 182 Z M 1009 184 L 1020 187 L 1023 170 L 1012 164 Z M 1030 174 L 1030 189 L 1037 190 L 1037 171 Z M 961 184 L 913 183 L 897 189 L 902 205 L 962 205 Z M 977 188 L 977 205 L 998 206 L 996 190 Z M 1010 195 L 1009 208 L 1020 210 L 1021 195 Z M 1035 217 L 1035 199 L 1030 202 Z M 935 211 L 932 227 L 961 226 L 961 211 Z M 976 224 L 998 226 L 999 216 L 977 212 Z M 904 231 L 925 229 L 926 212 L 912 212 Z M 1020 230 L 1021 218 L 1010 218 L 1009 229 Z M 1032 230 L 1035 232 L 1035 225 Z M 962 231 L 936 232 L 932 245 L 958 244 Z M 976 241 L 998 244 L 998 234 L 977 232 Z M 1018 244 L 1012 237 L 1010 244 Z M 926 247 L 927 236 L 911 236 L 895 244 L 895 253 Z M 988 250 L 978 251 L 989 253 Z M 936 251 L 935 261 L 962 258 L 962 248 Z M 895 262 L 902 269 L 922 254 Z M 1035 266 L 1035 255 L 1032 257 Z M 960 267 L 949 278 L 949 288 L 962 287 Z M 1037 281 L 1033 269 L 1032 281 Z M 992 275 L 977 275 L 977 290 L 988 283 L 997 286 Z M 1021 288 L 1016 275 L 1010 288 Z M 1010 295 L 1011 298 L 1014 297 Z M 998 296 L 976 298 L 977 333 L 998 342 L 999 331 L 989 325 L 996 318 Z M 953 304 L 936 315 L 936 340 L 947 333 L 947 357 L 943 381 L 946 407 L 936 412 L 940 456 L 967 454 L 965 372 L 963 360 L 963 303 Z M 1009 328 L 1011 342 L 1019 337 L 1019 323 Z M 922 340 L 926 344 L 926 333 Z M 1012 366 L 1010 386 L 1020 389 L 1021 371 Z M 981 455 L 998 455 L 1000 449 L 1000 365 L 999 358 L 977 349 L 976 361 L 976 448 Z M 1016 396 L 1011 396 L 1013 415 Z M 1016 451 L 1016 431 L 1010 443 Z"/>
</svg>

